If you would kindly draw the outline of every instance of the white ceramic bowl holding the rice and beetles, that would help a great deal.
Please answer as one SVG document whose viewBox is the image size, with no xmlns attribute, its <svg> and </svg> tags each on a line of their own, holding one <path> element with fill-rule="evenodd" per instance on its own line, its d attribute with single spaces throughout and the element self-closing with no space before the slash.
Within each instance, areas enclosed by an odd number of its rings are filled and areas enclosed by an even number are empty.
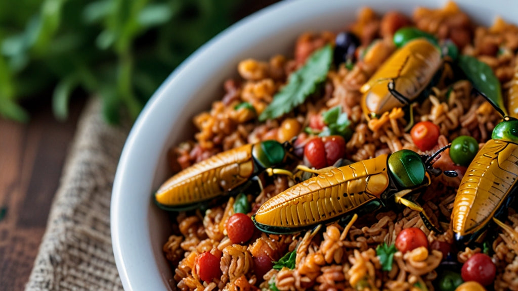
<svg viewBox="0 0 518 291">
<path fill-rule="evenodd" d="M 518 1 L 457 0 L 473 21 L 490 25 L 497 15 L 515 21 Z M 236 75 L 240 60 L 267 60 L 290 54 L 300 33 L 338 31 L 362 6 L 383 13 L 411 14 L 418 6 L 441 7 L 445 0 L 297 0 L 267 7 L 236 23 L 198 49 L 164 81 L 128 137 L 113 185 L 111 237 L 117 268 L 126 290 L 170 289 L 173 271 L 162 245 L 170 235 L 167 215 L 151 193 L 169 176 L 167 150 L 193 135 L 192 117 L 221 98 L 225 79 Z"/>
</svg>

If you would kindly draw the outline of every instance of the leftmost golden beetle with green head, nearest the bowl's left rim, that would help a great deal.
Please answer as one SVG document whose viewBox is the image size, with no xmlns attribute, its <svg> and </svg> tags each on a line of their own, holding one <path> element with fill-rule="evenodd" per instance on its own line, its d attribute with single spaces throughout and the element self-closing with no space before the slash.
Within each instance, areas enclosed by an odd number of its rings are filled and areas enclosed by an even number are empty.
<svg viewBox="0 0 518 291">
<path fill-rule="evenodd" d="M 198 208 L 215 198 L 246 188 L 252 178 L 272 169 L 287 156 L 287 143 L 267 140 L 221 152 L 192 165 L 169 178 L 154 194 L 156 204 L 165 210 L 185 211 Z M 237 194 L 237 193 L 236 193 Z"/>
</svg>

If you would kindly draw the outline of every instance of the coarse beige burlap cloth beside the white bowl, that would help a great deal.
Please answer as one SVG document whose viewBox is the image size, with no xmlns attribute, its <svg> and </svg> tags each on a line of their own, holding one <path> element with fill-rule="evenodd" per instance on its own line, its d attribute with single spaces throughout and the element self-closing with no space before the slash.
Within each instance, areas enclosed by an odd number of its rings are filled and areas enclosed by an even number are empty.
<svg viewBox="0 0 518 291">
<path fill-rule="evenodd" d="M 131 122 L 107 125 L 89 100 L 26 290 L 122 290 L 110 237 L 113 178 Z"/>
</svg>

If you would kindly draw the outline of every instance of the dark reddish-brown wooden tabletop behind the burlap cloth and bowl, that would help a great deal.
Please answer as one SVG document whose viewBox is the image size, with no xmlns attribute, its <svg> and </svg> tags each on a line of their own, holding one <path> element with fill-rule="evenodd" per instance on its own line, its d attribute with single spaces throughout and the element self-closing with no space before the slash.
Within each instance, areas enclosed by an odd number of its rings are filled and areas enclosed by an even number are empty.
<svg viewBox="0 0 518 291">
<path fill-rule="evenodd" d="M 246 1 L 236 19 L 277 1 Z M 48 98 L 26 102 L 29 123 L 0 117 L 0 290 L 23 290 L 31 274 L 85 99 L 74 98 L 65 122 Z"/>
</svg>

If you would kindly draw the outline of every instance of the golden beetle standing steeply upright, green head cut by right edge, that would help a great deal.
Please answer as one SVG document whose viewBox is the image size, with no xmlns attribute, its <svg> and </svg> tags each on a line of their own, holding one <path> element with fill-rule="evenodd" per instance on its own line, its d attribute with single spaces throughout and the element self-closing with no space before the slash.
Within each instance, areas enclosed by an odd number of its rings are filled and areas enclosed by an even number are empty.
<svg viewBox="0 0 518 291">
<path fill-rule="evenodd" d="M 473 158 L 455 196 L 452 227 L 459 243 L 481 242 L 491 221 L 508 227 L 499 219 L 518 189 L 518 120 L 506 117 L 491 138 Z"/>
</svg>

